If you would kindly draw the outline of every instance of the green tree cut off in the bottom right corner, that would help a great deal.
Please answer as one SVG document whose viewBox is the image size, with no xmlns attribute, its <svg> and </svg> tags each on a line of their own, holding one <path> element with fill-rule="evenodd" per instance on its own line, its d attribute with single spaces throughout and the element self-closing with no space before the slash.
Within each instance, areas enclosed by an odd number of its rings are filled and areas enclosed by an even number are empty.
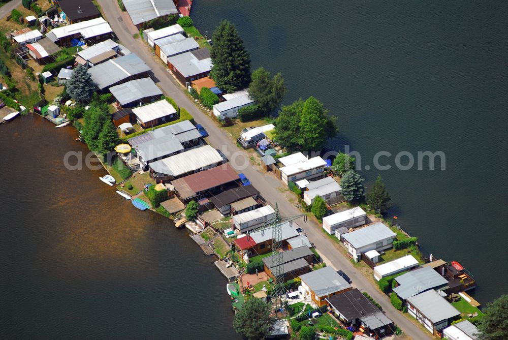
<svg viewBox="0 0 508 340">
<path fill-rule="evenodd" d="M 508 295 L 503 294 L 484 308 L 485 316 L 477 324 L 482 340 L 508 339 Z"/>
</svg>

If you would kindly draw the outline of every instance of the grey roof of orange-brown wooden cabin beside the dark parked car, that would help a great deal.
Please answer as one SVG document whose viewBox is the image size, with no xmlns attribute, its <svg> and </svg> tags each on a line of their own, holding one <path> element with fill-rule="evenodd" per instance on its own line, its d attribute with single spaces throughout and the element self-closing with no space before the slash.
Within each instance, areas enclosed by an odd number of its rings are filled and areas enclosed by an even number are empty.
<svg viewBox="0 0 508 340">
<path fill-rule="evenodd" d="M 300 275 L 300 279 L 309 286 L 315 295 L 320 297 L 351 288 L 351 285 L 337 274 L 332 267 L 325 267 Z"/>
</svg>

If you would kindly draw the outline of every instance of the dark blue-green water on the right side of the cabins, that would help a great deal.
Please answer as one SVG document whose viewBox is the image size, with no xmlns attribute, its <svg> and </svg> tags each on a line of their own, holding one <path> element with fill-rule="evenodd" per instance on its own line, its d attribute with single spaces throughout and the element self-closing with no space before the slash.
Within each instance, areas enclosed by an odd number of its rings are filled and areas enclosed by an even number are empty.
<svg viewBox="0 0 508 340">
<path fill-rule="evenodd" d="M 424 253 L 469 269 L 476 298 L 508 291 L 508 3 L 196 1 L 191 17 L 208 36 L 232 21 L 253 67 L 282 72 L 286 104 L 320 99 L 340 125 L 327 148 L 361 153 L 367 184 L 380 173 L 392 195 L 389 215 Z M 373 170 L 382 150 L 393 167 Z M 446 170 L 398 170 L 404 150 L 443 151 Z"/>
</svg>

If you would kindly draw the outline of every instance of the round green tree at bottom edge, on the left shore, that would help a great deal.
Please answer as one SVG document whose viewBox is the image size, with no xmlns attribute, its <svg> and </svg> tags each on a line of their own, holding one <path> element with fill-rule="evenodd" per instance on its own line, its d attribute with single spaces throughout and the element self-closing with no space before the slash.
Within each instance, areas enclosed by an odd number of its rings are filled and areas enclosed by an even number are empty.
<svg viewBox="0 0 508 340">
<path fill-rule="evenodd" d="M 249 340 L 262 340 L 268 335 L 273 323 L 270 312 L 270 304 L 261 299 L 250 298 L 235 314 L 233 328 Z"/>
</svg>

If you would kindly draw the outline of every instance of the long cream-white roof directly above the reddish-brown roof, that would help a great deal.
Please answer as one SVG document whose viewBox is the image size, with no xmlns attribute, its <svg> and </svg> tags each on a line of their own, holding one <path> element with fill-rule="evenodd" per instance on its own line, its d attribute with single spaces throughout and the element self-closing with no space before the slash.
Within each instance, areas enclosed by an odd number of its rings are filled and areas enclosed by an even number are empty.
<svg viewBox="0 0 508 340">
<path fill-rule="evenodd" d="M 204 145 L 178 153 L 175 156 L 153 162 L 150 164 L 150 168 L 152 168 L 155 172 L 164 175 L 180 176 L 222 161 L 223 158 L 217 150 L 210 145 Z"/>
</svg>

